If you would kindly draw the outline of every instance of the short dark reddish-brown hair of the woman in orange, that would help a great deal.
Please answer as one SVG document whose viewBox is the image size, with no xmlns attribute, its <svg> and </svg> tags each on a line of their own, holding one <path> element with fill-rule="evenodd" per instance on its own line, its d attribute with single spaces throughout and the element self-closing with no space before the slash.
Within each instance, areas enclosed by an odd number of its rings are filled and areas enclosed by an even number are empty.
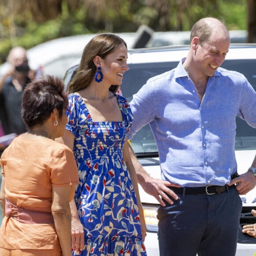
<svg viewBox="0 0 256 256">
<path fill-rule="evenodd" d="M 28 129 L 44 124 L 55 108 L 60 118 L 63 110 L 68 109 L 68 95 L 60 79 L 47 75 L 27 84 L 23 92 L 21 116 Z"/>
</svg>

